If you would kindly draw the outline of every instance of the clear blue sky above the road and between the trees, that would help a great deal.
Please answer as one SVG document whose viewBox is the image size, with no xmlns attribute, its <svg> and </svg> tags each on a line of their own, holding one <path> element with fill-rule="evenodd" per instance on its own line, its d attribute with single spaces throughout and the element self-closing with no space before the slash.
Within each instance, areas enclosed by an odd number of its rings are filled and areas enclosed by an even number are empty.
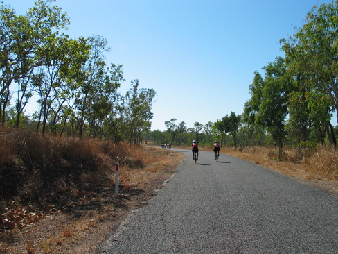
<svg viewBox="0 0 338 254">
<path fill-rule="evenodd" d="M 35 1 L 3 0 L 24 14 Z M 153 88 L 152 130 L 177 119 L 192 127 L 242 114 L 254 71 L 284 56 L 278 41 L 324 0 L 57 0 L 70 37 L 105 37 L 107 63 Z"/>
</svg>

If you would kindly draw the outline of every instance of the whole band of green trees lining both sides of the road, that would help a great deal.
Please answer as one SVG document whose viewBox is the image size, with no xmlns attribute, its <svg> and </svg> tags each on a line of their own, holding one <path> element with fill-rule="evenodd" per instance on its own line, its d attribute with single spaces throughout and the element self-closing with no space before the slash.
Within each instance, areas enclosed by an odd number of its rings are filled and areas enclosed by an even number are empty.
<svg viewBox="0 0 338 254">
<path fill-rule="evenodd" d="M 242 115 L 231 112 L 203 125 L 166 121 L 166 131 L 150 132 L 156 92 L 135 79 L 125 94 L 118 92 L 123 65 L 107 64 L 110 51 L 100 35 L 77 40 L 63 31 L 70 22 L 54 1 L 37 1 L 26 15 L 0 6 L 1 122 L 41 133 L 99 137 L 140 145 L 153 142 L 223 146 L 284 144 L 308 149 L 335 146 L 338 114 L 338 1 L 315 6 L 294 35 L 281 40 L 285 59 L 278 57 L 254 72 Z M 13 92 L 15 91 L 15 92 Z M 39 96 L 32 119 L 25 107 Z M 12 103 L 14 100 L 15 103 Z M 281 158 L 278 158 L 281 159 Z"/>
</svg>

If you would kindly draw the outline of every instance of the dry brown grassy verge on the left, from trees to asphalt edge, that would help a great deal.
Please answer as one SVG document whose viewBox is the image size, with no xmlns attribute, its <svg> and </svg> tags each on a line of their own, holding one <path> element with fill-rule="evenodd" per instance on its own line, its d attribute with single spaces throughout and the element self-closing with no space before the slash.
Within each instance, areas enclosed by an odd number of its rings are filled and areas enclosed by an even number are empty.
<svg viewBox="0 0 338 254">
<path fill-rule="evenodd" d="M 0 145 L 6 148 L 0 185 L 12 190 L 1 193 L 0 253 L 95 248 L 112 223 L 147 201 L 184 157 L 165 149 L 42 137 L 3 126 Z M 120 196 L 114 196 L 116 161 Z"/>
</svg>

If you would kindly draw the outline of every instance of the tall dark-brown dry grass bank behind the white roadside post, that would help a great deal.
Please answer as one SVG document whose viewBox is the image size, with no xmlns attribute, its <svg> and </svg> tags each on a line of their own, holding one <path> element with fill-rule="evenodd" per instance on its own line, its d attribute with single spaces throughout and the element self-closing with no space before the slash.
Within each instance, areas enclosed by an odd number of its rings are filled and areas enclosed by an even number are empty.
<svg viewBox="0 0 338 254">
<path fill-rule="evenodd" d="M 97 183 L 112 170 L 121 153 L 109 142 L 110 151 L 105 153 L 103 143 L 98 139 L 40 135 L 1 126 L 0 196 L 34 201 L 45 191 L 78 185 L 82 180 Z"/>
</svg>

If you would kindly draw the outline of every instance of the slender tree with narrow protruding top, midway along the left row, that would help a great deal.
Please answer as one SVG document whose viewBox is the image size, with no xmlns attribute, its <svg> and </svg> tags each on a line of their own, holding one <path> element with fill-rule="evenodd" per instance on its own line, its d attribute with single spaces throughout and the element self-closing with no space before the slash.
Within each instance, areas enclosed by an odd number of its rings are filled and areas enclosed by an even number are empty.
<svg viewBox="0 0 338 254">
<path fill-rule="evenodd" d="M 91 129 L 102 130 L 105 117 L 113 112 L 116 91 L 124 80 L 122 65 L 106 65 L 104 53 L 110 50 L 107 40 L 95 35 L 88 38 L 88 43 L 90 56 L 82 67 L 83 81 L 74 103 L 80 137 L 86 123 Z"/>
</svg>

